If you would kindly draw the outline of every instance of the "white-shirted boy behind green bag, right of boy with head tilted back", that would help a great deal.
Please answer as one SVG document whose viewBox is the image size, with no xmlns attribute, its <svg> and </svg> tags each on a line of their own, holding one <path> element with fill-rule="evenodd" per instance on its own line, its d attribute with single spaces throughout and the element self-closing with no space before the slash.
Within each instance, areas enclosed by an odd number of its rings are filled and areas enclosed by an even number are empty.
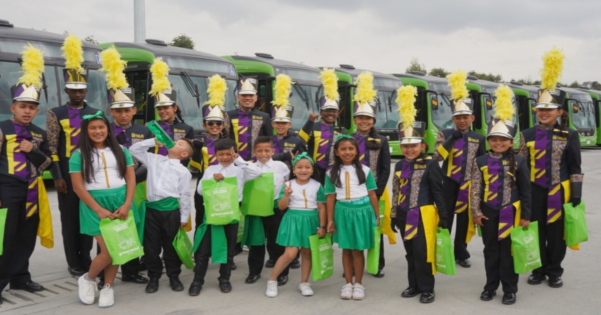
<svg viewBox="0 0 601 315">
<path fill-rule="evenodd" d="M 203 178 L 201 181 L 206 179 L 215 179 L 221 181 L 226 177 L 235 177 L 238 182 L 238 202 L 242 202 L 242 191 L 244 183 L 252 179 L 261 176 L 261 169 L 250 162 L 245 161 L 237 153 L 236 142 L 232 139 L 219 139 L 215 142 L 215 155 L 218 165 L 212 165 L 207 167 L 204 171 Z M 203 194 L 203 185 L 198 185 L 198 194 Z M 204 213 L 198 214 L 204 217 Z M 209 257 L 212 256 L 213 251 L 227 250 L 227 263 L 222 263 L 219 268 L 219 289 L 223 293 L 231 291 L 230 275 L 231 266 L 234 264 L 234 247 L 236 247 L 236 241 L 238 238 L 238 223 L 225 224 L 223 226 L 215 226 L 215 231 L 212 231 L 212 226 L 205 223 L 197 229 L 204 231 L 204 235 L 197 251 L 194 253 L 194 260 L 196 266 L 194 267 L 194 280 L 190 285 L 188 293 L 192 296 L 200 294 L 200 290 L 203 288 L 204 276 L 207 274 L 207 268 L 209 267 Z M 219 227 L 217 229 L 216 227 Z M 218 235 L 218 232 L 221 235 Z M 223 232 L 221 232 L 223 231 Z M 225 233 L 225 235 L 223 235 Z M 225 239 L 225 248 L 212 248 L 212 238 Z"/>
</svg>

